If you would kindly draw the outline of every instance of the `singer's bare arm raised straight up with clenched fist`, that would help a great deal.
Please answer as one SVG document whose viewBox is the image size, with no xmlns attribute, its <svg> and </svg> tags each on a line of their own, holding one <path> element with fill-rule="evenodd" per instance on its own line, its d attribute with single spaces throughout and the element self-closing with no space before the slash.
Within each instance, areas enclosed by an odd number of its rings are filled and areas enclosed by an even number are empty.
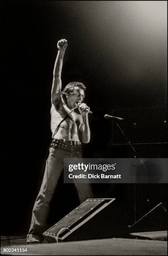
<svg viewBox="0 0 168 256">
<path fill-rule="evenodd" d="M 58 53 L 57 58 L 54 64 L 53 71 L 53 82 L 52 82 L 52 91 L 51 91 L 51 102 L 52 104 L 57 104 L 57 100 L 60 97 L 61 93 L 61 72 L 62 72 L 62 64 L 65 50 L 67 48 L 67 40 L 61 39 L 57 43 Z"/>
</svg>

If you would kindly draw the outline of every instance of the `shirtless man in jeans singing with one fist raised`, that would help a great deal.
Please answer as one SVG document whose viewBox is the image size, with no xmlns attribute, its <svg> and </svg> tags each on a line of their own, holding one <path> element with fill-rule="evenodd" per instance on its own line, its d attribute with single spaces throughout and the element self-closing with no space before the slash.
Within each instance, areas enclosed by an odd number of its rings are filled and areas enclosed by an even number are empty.
<svg viewBox="0 0 168 256">
<path fill-rule="evenodd" d="M 42 233 L 47 228 L 49 203 L 63 170 L 64 158 L 81 158 L 81 142 L 90 141 L 89 107 L 83 103 L 86 87 L 81 82 L 71 82 L 61 91 L 61 72 L 67 40 L 58 41 L 57 48 L 59 51 L 54 65 L 51 98 L 52 141 L 42 185 L 32 211 L 27 243 L 40 243 L 44 239 Z M 78 108 L 79 112 L 72 111 L 74 108 Z M 92 196 L 90 184 L 75 185 L 81 202 Z"/>
</svg>

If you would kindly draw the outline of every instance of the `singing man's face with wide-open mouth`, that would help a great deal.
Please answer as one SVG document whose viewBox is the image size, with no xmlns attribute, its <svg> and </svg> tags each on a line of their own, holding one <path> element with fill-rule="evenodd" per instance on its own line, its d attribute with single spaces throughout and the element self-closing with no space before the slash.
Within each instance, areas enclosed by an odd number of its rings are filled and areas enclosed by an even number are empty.
<svg viewBox="0 0 168 256">
<path fill-rule="evenodd" d="M 67 106 L 69 108 L 75 108 L 77 105 L 82 103 L 84 98 L 84 90 L 79 87 L 74 87 L 74 92 L 67 95 Z"/>
</svg>

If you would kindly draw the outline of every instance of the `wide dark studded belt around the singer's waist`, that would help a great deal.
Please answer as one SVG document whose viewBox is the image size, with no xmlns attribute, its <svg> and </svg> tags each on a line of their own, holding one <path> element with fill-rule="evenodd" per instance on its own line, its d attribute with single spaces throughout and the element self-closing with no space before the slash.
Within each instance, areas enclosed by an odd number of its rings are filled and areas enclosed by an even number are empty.
<svg viewBox="0 0 168 256">
<path fill-rule="evenodd" d="M 50 147 L 59 148 L 64 151 L 75 152 L 75 153 L 79 153 L 82 151 L 82 145 L 80 141 L 66 141 L 66 140 L 53 139 L 52 143 L 50 144 Z"/>
</svg>

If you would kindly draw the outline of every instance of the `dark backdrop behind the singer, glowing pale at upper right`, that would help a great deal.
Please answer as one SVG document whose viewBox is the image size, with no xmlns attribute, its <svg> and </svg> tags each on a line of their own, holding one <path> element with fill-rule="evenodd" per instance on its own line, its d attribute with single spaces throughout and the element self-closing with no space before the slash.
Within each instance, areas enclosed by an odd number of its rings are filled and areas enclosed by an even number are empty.
<svg viewBox="0 0 168 256">
<path fill-rule="evenodd" d="M 51 138 L 50 92 L 61 38 L 68 41 L 63 87 L 84 82 L 94 113 L 84 155 L 132 156 L 128 146 L 111 144 L 112 136 L 116 144 L 126 143 L 122 134 L 115 136 L 116 124 L 104 119 L 116 113 L 128 117 L 127 126 L 121 126 L 129 139 L 150 143 L 137 146 L 139 155 L 167 157 L 167 1 L 1 1 L 2 234 L 26 234 L 30 226 Z M 140 120 L 137 109 L 143 120 L 138 137 L 133 129 Z M 78 204 L 71 184 L 60 184 L 53 203 L 57 220 Z M 131 215 L 134 189 L 119 185 L 93 186 L 95 197 L 126 194 Z M 164 200 L 166 184 L 137 184 L 139 218 Z"/>
</svg>

